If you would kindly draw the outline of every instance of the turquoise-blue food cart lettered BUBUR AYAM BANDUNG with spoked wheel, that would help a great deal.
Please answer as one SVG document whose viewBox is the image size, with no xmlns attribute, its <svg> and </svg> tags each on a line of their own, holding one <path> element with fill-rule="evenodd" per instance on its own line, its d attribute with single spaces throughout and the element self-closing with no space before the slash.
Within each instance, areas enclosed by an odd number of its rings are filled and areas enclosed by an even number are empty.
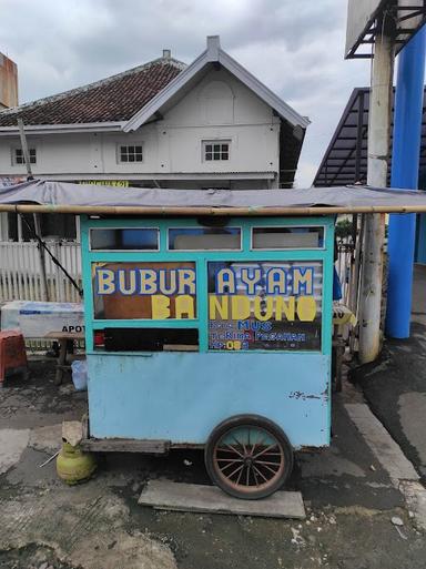
<svg viewBox="0 0 426 569">
<path fill-rule="evenodd" d="M 334 217 L 85 217 L 87 448 L 260 498 L 331 434 Z"/>
</svg>

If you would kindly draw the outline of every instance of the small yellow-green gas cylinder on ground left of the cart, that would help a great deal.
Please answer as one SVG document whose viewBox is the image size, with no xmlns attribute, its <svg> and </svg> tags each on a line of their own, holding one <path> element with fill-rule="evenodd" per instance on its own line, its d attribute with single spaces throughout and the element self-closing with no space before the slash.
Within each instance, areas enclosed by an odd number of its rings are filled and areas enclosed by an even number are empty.
<svg viewBox="0 0 426 569">
<path fill-rule="evenodd" d="M 62 444 L 57 458 L 57 473 L 61 480 L 69 485 L 79 484 L 90 478 L 95 469 L 93 455 L 83 453 L 79 445 Z"/>
</svg>

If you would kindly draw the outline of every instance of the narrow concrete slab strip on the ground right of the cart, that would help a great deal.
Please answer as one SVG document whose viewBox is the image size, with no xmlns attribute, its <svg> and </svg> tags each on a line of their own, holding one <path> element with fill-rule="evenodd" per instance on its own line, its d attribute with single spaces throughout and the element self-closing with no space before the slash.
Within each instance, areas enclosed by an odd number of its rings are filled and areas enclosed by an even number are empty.
<svg viewBox="0 0 426 569">
<path fill-rule="evenodd" d="M 419 479 L 412 463 L 367 405 L 346 404 L 345 408 L 371 450 L 395 484 L 398 484 L 398 480 Z"/>
</svg>

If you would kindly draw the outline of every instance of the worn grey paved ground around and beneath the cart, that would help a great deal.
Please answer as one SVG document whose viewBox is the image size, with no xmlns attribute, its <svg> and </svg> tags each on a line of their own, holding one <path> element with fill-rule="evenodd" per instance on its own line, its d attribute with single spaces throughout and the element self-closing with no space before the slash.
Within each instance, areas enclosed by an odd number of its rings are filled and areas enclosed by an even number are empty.
<svg viewBox="0 0 426 569">
<path fill-rule="evenodd" d="M 357 388 L 335 396 L 331 449 L 297 457 L 290 486 L 308 510 L 298 522 L 138 506 L 149 479 L 209 484 L 200 453 L 110 455 L 91 481 L 64 486 L 54 461 L 40 465 L 58 448 L 61 420 L 83 413 L 84 395 L 55 387 L 50 365 L 32 369 L 28 384 L 0 392 L 1 568 L 424 569 L 424 529 L 346 411 L 363 404 Z"/>
</svg>

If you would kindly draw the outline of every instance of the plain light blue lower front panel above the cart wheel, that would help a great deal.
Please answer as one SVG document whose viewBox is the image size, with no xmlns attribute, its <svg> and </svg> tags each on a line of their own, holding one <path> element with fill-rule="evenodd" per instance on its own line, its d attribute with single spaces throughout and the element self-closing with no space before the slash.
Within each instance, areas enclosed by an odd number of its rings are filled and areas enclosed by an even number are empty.
<svg viewBox="0 0 426 569">
<path fill-rule="evenodd" d="M 294 448 L 322 447 L 328 369 L 318 354 L 90 355 L 90 434 L 204 444 L 222 420 L 256 414 Z"/>
</svg>

